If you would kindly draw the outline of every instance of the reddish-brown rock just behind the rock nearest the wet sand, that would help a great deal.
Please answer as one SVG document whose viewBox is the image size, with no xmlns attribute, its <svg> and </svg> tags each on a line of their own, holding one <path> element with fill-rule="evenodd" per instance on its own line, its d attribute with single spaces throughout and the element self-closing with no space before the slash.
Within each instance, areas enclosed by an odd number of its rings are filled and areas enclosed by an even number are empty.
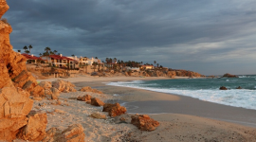
<svg viewBox="0 0 256 142">
<path fill-rule="evenodd" d="M 117 115 L 125 114 L 126 108 L 123 106 L 120 106 L 119 103 L 115 103 L 115 104 L 106 103 L 103 105 L 102 112 L 108 112 L 108 115 L 110 116 L 117 116 Z"/>
</svg>

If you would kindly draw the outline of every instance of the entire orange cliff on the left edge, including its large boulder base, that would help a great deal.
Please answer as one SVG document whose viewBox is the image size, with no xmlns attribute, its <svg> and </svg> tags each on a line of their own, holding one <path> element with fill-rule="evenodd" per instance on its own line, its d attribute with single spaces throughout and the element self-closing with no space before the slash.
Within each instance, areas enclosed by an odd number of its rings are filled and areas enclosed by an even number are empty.
<svg viewBox="0 0 256 142">
<path fill-rule="evenodd" d="M 9 9 L 6 0 L 0 2 L 0 18 Z M 28 113 L 33 106 L 30 93 L 39 96 L 43 88 L 27 72 L 26 58 L 12 50 L 9 34 L 12 28 L 0 21 L 0 141 L 16 138 L 27 125 Z M 35 89 L 37 87 L 37 89 Z"/>
</svg>

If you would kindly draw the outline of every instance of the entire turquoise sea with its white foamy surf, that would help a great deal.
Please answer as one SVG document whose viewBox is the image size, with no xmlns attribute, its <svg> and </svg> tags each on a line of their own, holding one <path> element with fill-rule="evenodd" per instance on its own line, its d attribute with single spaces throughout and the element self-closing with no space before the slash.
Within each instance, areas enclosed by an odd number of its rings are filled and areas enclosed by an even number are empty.
<svg viewBox="0 0 256 142">
<path fill-rule="evenodd" d="M 256 110 L 256 76 L 221 79 L 134 80 L 108 85 L 145 89 Z M 229 90 L 219 90 L 226 86 Z M 241 86 L 243 89 L 236 89 Z"/>
</svg>

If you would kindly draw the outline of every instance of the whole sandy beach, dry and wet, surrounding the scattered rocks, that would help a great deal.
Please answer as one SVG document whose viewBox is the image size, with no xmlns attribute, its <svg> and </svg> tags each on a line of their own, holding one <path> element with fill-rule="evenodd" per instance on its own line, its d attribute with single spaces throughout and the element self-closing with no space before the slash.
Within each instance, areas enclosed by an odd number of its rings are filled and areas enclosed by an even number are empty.
<svg viewBox="0 0 256 142">
<path fill-rule="evenodd" d="M 62 93 L 61 105 L 56 105 L 55 100 L 44 98 L 35 101 L 33 109 L 48 112 L 46 130 L 51 127 L 64 130 L 70 124 L 82 124 L 86 141 L 255 141 L 256 111 L 254 110 L 229 107 L 195 98 L 106 85 L 109 81 L 166 79 L 130 77 L 64 79 L 74 83 L 77 90 L 91 86 L 102 91 L 103 95 L 81 91 Z M 49 81 L 52 80 L 57 79 Z M 125 103 L 128 112 L 113 118 L 107 116 L 106 120 L 92 118 L 88 115 L 107 114 L 101 112 L 102 107 L 74 99 L 86 94 L 100 98 L 104 102 Z M 130 123 L 131 115 L 135 113 L 149 114 L 160 122 L 160 126 L 153 132 L 139 131 Z M 120 123 L 120 117 L 125 117 L 126 123 Z"/>
</svg>

